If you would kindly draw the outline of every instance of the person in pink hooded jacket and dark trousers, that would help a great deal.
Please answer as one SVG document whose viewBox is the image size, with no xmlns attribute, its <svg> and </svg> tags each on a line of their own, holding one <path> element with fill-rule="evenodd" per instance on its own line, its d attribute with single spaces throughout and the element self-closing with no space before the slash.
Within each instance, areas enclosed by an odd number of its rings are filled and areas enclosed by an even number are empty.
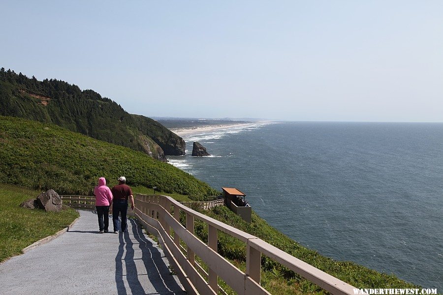
<svg viewBox="0 0 443 295">
<path fill-rule="evenodd" d="M 109 227 L 109 206 L 112 203 L 112 192 L 111 189 L 106 186 L 106 179 L 104 177 L 98 178 L 98 185 L 94 188 L 94 195 L 99 233 L 107 233 Z"/>
</svg>

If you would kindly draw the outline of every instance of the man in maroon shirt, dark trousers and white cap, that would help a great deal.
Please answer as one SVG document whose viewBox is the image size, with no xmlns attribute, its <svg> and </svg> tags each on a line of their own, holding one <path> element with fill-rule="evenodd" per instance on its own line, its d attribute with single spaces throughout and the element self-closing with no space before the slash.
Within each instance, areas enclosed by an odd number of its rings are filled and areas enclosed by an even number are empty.
<svg viewBox="0 0 443 295">
<path fill-rule="evenodd" d="M 121 176 L 119 179 L 119 184 L 111 189 L 112 195 L 114 196 L 112 200 L 112 223 L 114 225 L 114 234 L 118 234 L 118 220 L 119 214 L 122 217 L 122 233 L 126 232 L 127 228 L 127 201 L 131 202 L 131 209 L 134 209 L 134 197 L 132 196 L 131 188 L 126 184 L 126 177 Z"/>
</svg>

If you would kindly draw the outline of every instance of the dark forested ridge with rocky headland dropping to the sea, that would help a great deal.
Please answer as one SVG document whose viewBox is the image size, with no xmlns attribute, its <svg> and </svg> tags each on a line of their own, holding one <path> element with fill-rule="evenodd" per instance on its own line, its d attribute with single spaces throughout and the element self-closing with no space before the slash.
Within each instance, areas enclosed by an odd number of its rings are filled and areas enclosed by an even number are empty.
<svg viewBox="0 0 443 295">
<path fill-rule="evenodd" d="M 153 158 L 185 153 L 183 139 L 157 121 L 127 113 L 94 90 L 56 79 L 38 81 L 0 69 L 0 115 L 53 123 Z"/>
</svg>

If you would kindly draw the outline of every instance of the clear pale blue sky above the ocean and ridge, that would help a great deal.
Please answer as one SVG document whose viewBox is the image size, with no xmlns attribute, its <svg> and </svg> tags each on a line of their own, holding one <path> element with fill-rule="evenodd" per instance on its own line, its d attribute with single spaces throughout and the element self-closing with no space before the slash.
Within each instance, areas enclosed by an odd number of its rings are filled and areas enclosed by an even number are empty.
<svg viewBox="0 0 443 295">
<path fill-rule="evenodd" d="M 443 121 L 442 0 L 3 0 L 0 11 L 0 66 L 134 114 Z"/>
</svg>

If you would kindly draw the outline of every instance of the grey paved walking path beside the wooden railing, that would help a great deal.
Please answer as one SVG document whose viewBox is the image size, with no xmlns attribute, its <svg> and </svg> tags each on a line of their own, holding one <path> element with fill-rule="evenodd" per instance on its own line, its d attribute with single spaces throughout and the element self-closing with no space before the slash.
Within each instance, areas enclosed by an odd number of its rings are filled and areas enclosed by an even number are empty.
<svg viewBox="0 0 443 295">
<path fill-rule="evenodd" d="M 0 293 L 186 294 L 168 265 L 134 220 L 125 234 L 98 234 L 97 215 L 80 211 L 62 236 L 0 264 Z"/>
</svg>

